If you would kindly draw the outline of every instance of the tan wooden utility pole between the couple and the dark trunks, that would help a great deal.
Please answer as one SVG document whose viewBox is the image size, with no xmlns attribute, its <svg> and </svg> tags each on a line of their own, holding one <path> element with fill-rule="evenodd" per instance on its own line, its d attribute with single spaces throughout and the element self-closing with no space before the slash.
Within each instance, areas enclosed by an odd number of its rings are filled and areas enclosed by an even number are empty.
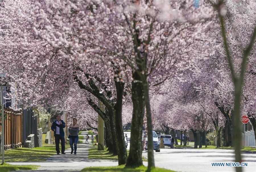
<svg viewBox="0 0 256 172">
<path fill-rule="evenodd" d="M 100 110 L 104 111 L 102 102 L 100 102 Z M 100 115 L 98 115 L 98 150 L 104 150 L 104 121 Z"/>
</svg>

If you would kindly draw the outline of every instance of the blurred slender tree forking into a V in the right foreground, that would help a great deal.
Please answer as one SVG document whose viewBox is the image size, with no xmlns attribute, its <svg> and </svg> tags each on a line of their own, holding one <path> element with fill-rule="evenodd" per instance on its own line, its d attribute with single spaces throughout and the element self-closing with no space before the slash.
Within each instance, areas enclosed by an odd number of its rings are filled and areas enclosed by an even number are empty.
<svg viewBox="0 0 256 172">
<path fill-rule="evenodd" d="M 234 83 L 234 145 L 236 162 L 241 162 L 241 93 L 248 58 L 251 53 L 255 53 L 256 26 L 255 18 L 252 17 L 253 13 L 255 15 L 255 3 L 225 3 L 221 0 L 212 4 L 218 12 L 225 56 Z M 232 52 L 234 49 L 237 50 L 235 53 Z M 242 171 L 241 167 L 236 167 L 236 171 Z"/>
</svg>

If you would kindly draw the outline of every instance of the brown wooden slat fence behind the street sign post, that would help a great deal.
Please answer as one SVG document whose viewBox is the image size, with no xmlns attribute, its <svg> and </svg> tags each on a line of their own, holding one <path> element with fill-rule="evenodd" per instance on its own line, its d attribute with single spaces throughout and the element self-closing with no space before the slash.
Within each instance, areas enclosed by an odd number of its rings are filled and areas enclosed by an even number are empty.
<svg viewBox="0 0 256 172">
<path fill-rule="evenodd" d="M 21 138 L 21 111 L 4 108 L 5 119 L 5 149 L 17 148 L 22 145 Z M 0 131 L 2 128 L 0 127 Z"/>
</svg>

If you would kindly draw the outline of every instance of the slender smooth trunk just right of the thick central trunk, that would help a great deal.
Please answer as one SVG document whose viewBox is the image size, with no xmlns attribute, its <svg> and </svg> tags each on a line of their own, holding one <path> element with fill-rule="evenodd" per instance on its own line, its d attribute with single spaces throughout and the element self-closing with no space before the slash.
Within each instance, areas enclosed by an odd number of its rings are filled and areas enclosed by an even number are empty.
<svg viewBox="0 0 256 172">
<path fill-rule="evenodd" d="M 146 77 L 143 79 L 143 90 L 144 90 L 144 100 L 146 105 L 146 116 L 147 116 L 147 129 L 148 129 L 148 171 L 155 167 L 154 162 L 154 143 L 153 143 L 153 133 L 152 133 L 152 119 L 150 110 L 150 99 L 149 99 L 149 85 Z"/>
</svg>

